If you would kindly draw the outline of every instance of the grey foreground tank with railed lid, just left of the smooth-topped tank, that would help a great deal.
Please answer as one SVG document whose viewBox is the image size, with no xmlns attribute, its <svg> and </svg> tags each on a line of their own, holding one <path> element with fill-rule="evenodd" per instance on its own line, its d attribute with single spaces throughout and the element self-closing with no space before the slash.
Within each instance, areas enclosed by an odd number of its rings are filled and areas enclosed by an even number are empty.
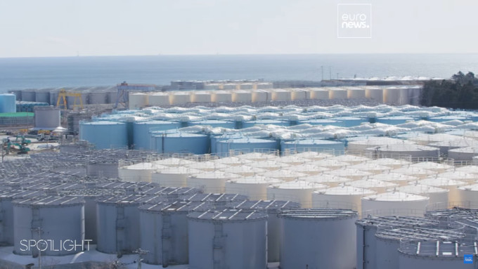
<svg viewBox="0 0 478 269">
<path fill-rule="evenodd" d="M 226 209 L 190 213 L 190 268 L 267 268 L 266 225 L 267 214 L 262 212 Z"/>
</svg>

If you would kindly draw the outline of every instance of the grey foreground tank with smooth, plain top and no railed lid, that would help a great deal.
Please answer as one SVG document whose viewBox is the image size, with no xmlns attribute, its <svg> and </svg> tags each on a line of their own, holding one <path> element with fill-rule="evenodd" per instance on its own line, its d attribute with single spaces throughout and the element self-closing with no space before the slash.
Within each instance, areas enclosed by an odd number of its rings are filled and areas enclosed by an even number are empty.
<svg viewBox="0 0 478 269">
<path fill-rule="evenodd" d="M 288 209 L 278 216 L 281 269 L 355 267 L 355 211 Z"/>
</svg>

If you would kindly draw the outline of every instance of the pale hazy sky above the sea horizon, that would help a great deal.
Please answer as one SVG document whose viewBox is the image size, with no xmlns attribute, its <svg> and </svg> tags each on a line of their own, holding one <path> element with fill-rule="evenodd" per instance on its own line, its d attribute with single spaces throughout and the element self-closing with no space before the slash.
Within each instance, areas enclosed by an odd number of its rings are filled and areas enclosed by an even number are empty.
<svg viewBox="0 0 478 269">
<path fill-rule="evenodd" d="M 337 39 L 337 4 L 372 4 Z M 477 0 L 2 0 L 0 57 L 477 53 Z"/>
</svg>

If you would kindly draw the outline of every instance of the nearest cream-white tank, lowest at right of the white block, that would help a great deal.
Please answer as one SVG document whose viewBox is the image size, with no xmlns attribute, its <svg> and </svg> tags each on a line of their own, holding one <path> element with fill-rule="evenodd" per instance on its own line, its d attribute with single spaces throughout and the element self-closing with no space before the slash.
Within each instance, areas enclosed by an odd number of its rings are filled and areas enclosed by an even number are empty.
<svg viewBox="0 0 478 269">
<path fill-rule="evenodd" d="M 362 197 L 363 216 L 423 216 L 429 197 L 406 192 L 385 192 Z"/>
</svg>

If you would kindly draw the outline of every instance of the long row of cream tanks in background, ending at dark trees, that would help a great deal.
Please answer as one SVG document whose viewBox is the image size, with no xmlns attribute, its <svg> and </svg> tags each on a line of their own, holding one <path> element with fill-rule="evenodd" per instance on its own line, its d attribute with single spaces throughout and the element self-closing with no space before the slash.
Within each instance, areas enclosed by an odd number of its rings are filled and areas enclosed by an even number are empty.
<svg viewBox="0 0 478 269">
<path fill-rule="evenodd" d="M 129 109 L 184 103 L 258 103 L 269 101 L 370 99 L 394 105 L 418 105 L 421 86 L 347 86 L 322 88 L 270 88 L 214 91 L 129 93 Z"/>
</svg>

